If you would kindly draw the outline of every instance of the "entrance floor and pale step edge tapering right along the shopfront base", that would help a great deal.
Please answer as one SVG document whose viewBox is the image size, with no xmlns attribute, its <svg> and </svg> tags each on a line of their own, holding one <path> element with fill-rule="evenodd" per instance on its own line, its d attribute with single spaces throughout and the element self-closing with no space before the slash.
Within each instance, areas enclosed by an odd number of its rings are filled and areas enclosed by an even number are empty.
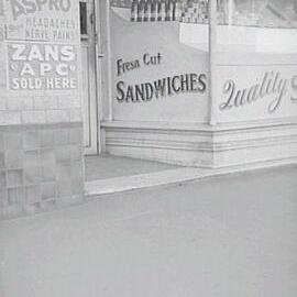
<svg viewBox="0 0 297 297">
<path fill-rule="evenodd" d="M 226 174 L 242 173 L 246 170 L 263 169 L 278 166 L 296 166 L 284 161 L 271 163 L 254 163 L 245 166 L 226 168 L 197 168 L 182 167 L 157 162 L 119 157 L 111 155 L 86 157 L 86 198 L 96 198 L 100 195 L 120 193 L 133 189 L 164 186 L 195 180 L 205 177 L 215 177 Z"/>
</svg>

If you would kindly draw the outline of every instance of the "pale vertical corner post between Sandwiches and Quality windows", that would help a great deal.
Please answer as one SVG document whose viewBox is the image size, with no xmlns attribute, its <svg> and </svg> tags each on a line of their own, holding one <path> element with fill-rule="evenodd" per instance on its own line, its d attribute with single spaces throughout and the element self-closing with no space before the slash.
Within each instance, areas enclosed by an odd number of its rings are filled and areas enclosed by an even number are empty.
<svg viewBox="0 0 297 297">
<path fill-rule="evenodd" d="M 209 0 L 209 124 L 217 124 L 217 0 Z"/>
</svg>

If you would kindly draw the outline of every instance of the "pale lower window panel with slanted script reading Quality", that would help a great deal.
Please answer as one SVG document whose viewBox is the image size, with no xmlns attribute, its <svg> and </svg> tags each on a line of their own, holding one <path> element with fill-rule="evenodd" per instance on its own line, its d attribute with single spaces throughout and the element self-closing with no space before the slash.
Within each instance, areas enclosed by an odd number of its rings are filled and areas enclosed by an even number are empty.
<svg viewBox="0 0 297 297">
<path fill-rule="evenodd" d="M 220 121 L 297 114 L 295 66 L 229 66 L 219 74 Z"/>
</svg>

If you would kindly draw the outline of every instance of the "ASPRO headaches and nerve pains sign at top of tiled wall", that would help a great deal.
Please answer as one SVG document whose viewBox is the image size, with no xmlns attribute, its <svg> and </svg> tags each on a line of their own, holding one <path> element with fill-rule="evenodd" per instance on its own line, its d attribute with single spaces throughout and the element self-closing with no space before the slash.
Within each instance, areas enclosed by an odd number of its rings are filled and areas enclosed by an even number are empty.
<svg viewBox="0 0 297 297">
<path fill-rule="evenodd" d="M 1 0 L 0 0 L 1 1 Z M 2 0 L 4 1 L 4 0 Z M 73 0 L 6 0 L 8 40 L 75 43 L 79 37 Z"/>
</svg>

